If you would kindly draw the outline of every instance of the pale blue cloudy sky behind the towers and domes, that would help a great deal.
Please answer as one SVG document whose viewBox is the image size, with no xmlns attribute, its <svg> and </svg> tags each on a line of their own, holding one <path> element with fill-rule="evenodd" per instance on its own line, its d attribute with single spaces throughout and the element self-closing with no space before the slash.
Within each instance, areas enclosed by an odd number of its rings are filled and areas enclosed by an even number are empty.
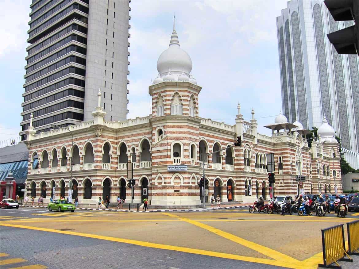
<svg viewBox="0 0 359 269">
<path fill-rule="evenodd" d="M 104 0 L 98 0 L 104 1 Z M 0 141 L 18 136 L 31 0 L 0 0 Z M 150 114 L 148 86 L 168 48 L 176 16 L 180 46 L 202 87 L 199 115 L 234 124 L 255 110 L 258 132 L 281 108 L 276 16 L 287 0 L 132 0 L 127 118 Z"/>
</svg>

